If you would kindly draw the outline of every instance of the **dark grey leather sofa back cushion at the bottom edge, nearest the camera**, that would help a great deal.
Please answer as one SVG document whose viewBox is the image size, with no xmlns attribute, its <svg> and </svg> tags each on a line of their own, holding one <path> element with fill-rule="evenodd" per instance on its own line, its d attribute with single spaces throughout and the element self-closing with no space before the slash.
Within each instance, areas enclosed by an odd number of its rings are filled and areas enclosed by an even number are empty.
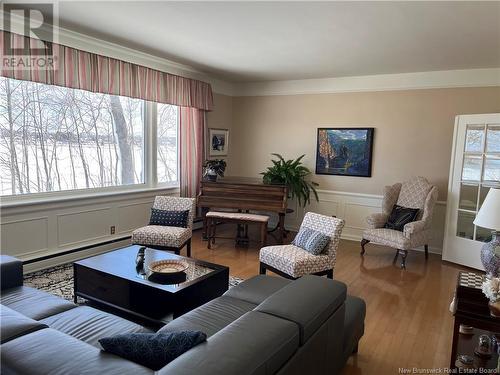
<svg viewBox="0 0 500 375">
<path fill-rule="evenodd" d="M 295 323 L 250 311 L 170 362 L 158 375 L 275 374 L 298 345 Z"/>
</svg>

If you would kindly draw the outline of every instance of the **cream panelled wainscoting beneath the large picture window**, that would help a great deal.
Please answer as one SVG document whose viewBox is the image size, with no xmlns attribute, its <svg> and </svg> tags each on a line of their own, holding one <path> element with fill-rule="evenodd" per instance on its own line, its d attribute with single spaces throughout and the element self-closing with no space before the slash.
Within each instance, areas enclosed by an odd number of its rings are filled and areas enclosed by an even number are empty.
<svg viewBox="0 0 500 375">
<path fill-rule="evenodd" d="M 115 241 L 130 236 L 135 228 L 147 224 L 156 195 L 178 195 L 177 189 L 129 192 L 74 200 L 39 202 L 32 205 L 9 205 L 1 209 L 0 250 L 23 261 L 57 255 L 81 247 Z M 111 234 L 111 227 L 115 234 Z M 121 241 L 122 245 L 127 243 Z M 84 251 L 105 251 L 113 246 Z M 82 257 L 64 256 L 61 259 Z M 57 261 L 44 261 L 54 265 Z M 30 266 L 28 269 L 39 268 Z"/>
</svg>

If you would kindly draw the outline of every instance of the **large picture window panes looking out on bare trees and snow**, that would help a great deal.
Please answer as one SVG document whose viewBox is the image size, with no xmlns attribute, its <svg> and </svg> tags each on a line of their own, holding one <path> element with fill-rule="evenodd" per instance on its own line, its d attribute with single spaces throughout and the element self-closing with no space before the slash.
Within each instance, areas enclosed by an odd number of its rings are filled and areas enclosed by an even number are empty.
<svg viewBox="0 0 500 375">
<path fill-rule="evenodd" d="M 1 195 L 146 184 L 145 106 L 140 99 L 0 77 Z M 153 108 L 157 181 L 175 184 L 178 107 Z"/>
</svg>

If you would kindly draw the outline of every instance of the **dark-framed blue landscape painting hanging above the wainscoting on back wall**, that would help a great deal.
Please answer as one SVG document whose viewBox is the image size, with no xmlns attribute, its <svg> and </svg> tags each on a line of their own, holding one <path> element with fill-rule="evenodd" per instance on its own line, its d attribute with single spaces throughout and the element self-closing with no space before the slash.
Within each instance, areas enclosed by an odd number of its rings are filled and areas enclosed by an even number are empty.
<svg viewBox="0 0 500 375">
<path fill-rule="evenodd" d="M 319 128 L 316 174 L 371 177 L 373 128 Z"/>
</svg>

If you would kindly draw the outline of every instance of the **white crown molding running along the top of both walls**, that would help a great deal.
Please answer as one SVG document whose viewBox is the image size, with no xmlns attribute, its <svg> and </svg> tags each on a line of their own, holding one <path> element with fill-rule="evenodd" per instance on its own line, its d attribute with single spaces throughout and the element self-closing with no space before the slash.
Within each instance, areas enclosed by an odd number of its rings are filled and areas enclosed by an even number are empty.
<svg viewBox="0 0 500 375">
<path fill-rule="evenodd" d="M 3 11 L 0 13 L 3 16 Z M 23 25 L 23 18 L 13 15 L 11 19 L 13 25 L 17 27 Z M 3 25 L 0 26 L 0 29 L 3 30 Z M 163 72 L 205 81 L 212 85 L 212 90 L 215 93 L 228 96 L 330 94 L 500 86 L 500 67 L 266 82 L 230 82 L 213 77 L 189 65 L 150 55 L 116 43 L 61 27 L 58 27 L 57 30 L 57 42 L 60 44 Z"/>
</svg>

